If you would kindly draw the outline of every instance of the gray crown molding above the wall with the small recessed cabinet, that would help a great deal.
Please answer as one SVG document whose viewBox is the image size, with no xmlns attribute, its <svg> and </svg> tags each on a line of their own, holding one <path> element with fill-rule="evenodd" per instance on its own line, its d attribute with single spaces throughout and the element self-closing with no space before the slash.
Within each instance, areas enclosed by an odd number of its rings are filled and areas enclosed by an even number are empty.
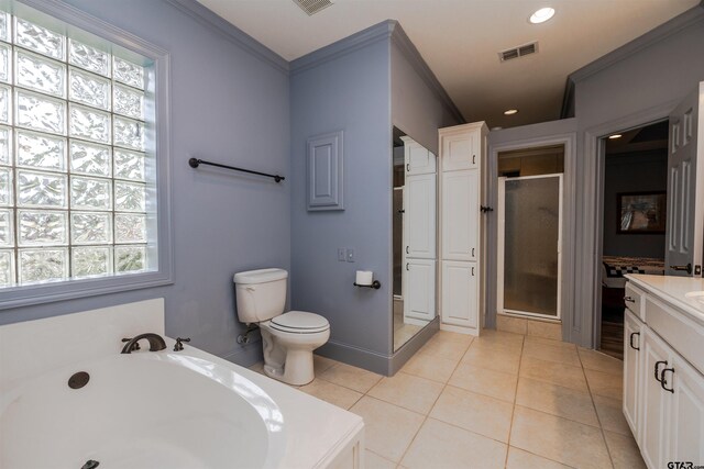
<svg viewBox="0 0 704 469">
<path fill-rule="evenodd" d="M 362 30 L 359 33 L 354 33 L 351 36 L 344 37 L 340 41 L 314 51 L 309 54 L 298 57 L 290 62 L 290 75 L 300 74 L 301 71 L 317 67 L 326 62 L 334 60 L 346 54 L 351 54 L 363 47 L 374 44 L 382 40 L 387 40 L 392 31 L 394 30 L 395 21 L 383 21 L 378 24 Z"/>
</svg>

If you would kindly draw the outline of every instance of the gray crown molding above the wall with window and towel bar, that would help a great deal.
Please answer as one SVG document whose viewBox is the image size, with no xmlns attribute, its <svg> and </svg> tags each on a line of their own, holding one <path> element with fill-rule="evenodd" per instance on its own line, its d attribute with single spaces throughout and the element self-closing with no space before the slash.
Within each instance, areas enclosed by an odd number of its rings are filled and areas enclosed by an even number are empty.
<svg viewBox="0 0 704 469">
<path fill-rule="evenodd" d="M 288 75 L 289 63 L 244 31 L 210 11 L 196 0 L 165 0 L 183 13 L 205 24 L 211 31 L 220 33 L 234 45 L 243 48 L 262 62 L 271 65 L 284 75 Z"/>
</svg>

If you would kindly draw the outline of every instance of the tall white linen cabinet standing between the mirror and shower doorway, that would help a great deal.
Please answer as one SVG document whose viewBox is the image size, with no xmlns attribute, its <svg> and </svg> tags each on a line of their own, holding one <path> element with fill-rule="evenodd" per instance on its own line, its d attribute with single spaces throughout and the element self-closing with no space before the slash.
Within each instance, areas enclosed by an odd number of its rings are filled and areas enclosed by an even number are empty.
<svg viewBox="0 0 704 469">
<path fill-rule="evenodd" d="M 484 319 L 484 122 L 440 129 L 440 328 L 479 335 Z"/>
</svg>

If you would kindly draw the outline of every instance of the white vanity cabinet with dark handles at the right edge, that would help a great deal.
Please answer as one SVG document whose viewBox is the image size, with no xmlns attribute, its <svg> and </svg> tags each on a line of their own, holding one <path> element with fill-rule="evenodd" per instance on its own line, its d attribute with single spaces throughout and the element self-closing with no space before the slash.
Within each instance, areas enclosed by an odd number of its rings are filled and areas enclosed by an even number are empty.
<svg viewBox="0 0 704 469">
<path fill-rule="evenodd" d="M 668 467 L 671 461 L 701 464 L 704 308 L 690 308 L 662 287 L 682 282 L 696 287 L 701 279 L 628 278 L 626 297 L 634 301 L 626 300 L 624 415 L 649 468 Z M 649 288 L 648 281 L 658 288 Z M 684 297 L 686 289 L 679 291 Z"/>
</svg>

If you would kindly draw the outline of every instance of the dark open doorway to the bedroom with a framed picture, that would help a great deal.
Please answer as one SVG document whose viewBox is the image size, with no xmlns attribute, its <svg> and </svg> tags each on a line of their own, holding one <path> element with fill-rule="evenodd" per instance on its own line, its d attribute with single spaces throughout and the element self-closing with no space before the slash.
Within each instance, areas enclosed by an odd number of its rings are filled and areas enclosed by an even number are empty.
<svg viewBox="0 0 704 469">
<path fill-rule="evenodd" d="M 624 275 L 664 275 L 668 121 L 616 132 L 602 142 L 602 319 L 597 347 L 623 359 Z"/>
</svg>

